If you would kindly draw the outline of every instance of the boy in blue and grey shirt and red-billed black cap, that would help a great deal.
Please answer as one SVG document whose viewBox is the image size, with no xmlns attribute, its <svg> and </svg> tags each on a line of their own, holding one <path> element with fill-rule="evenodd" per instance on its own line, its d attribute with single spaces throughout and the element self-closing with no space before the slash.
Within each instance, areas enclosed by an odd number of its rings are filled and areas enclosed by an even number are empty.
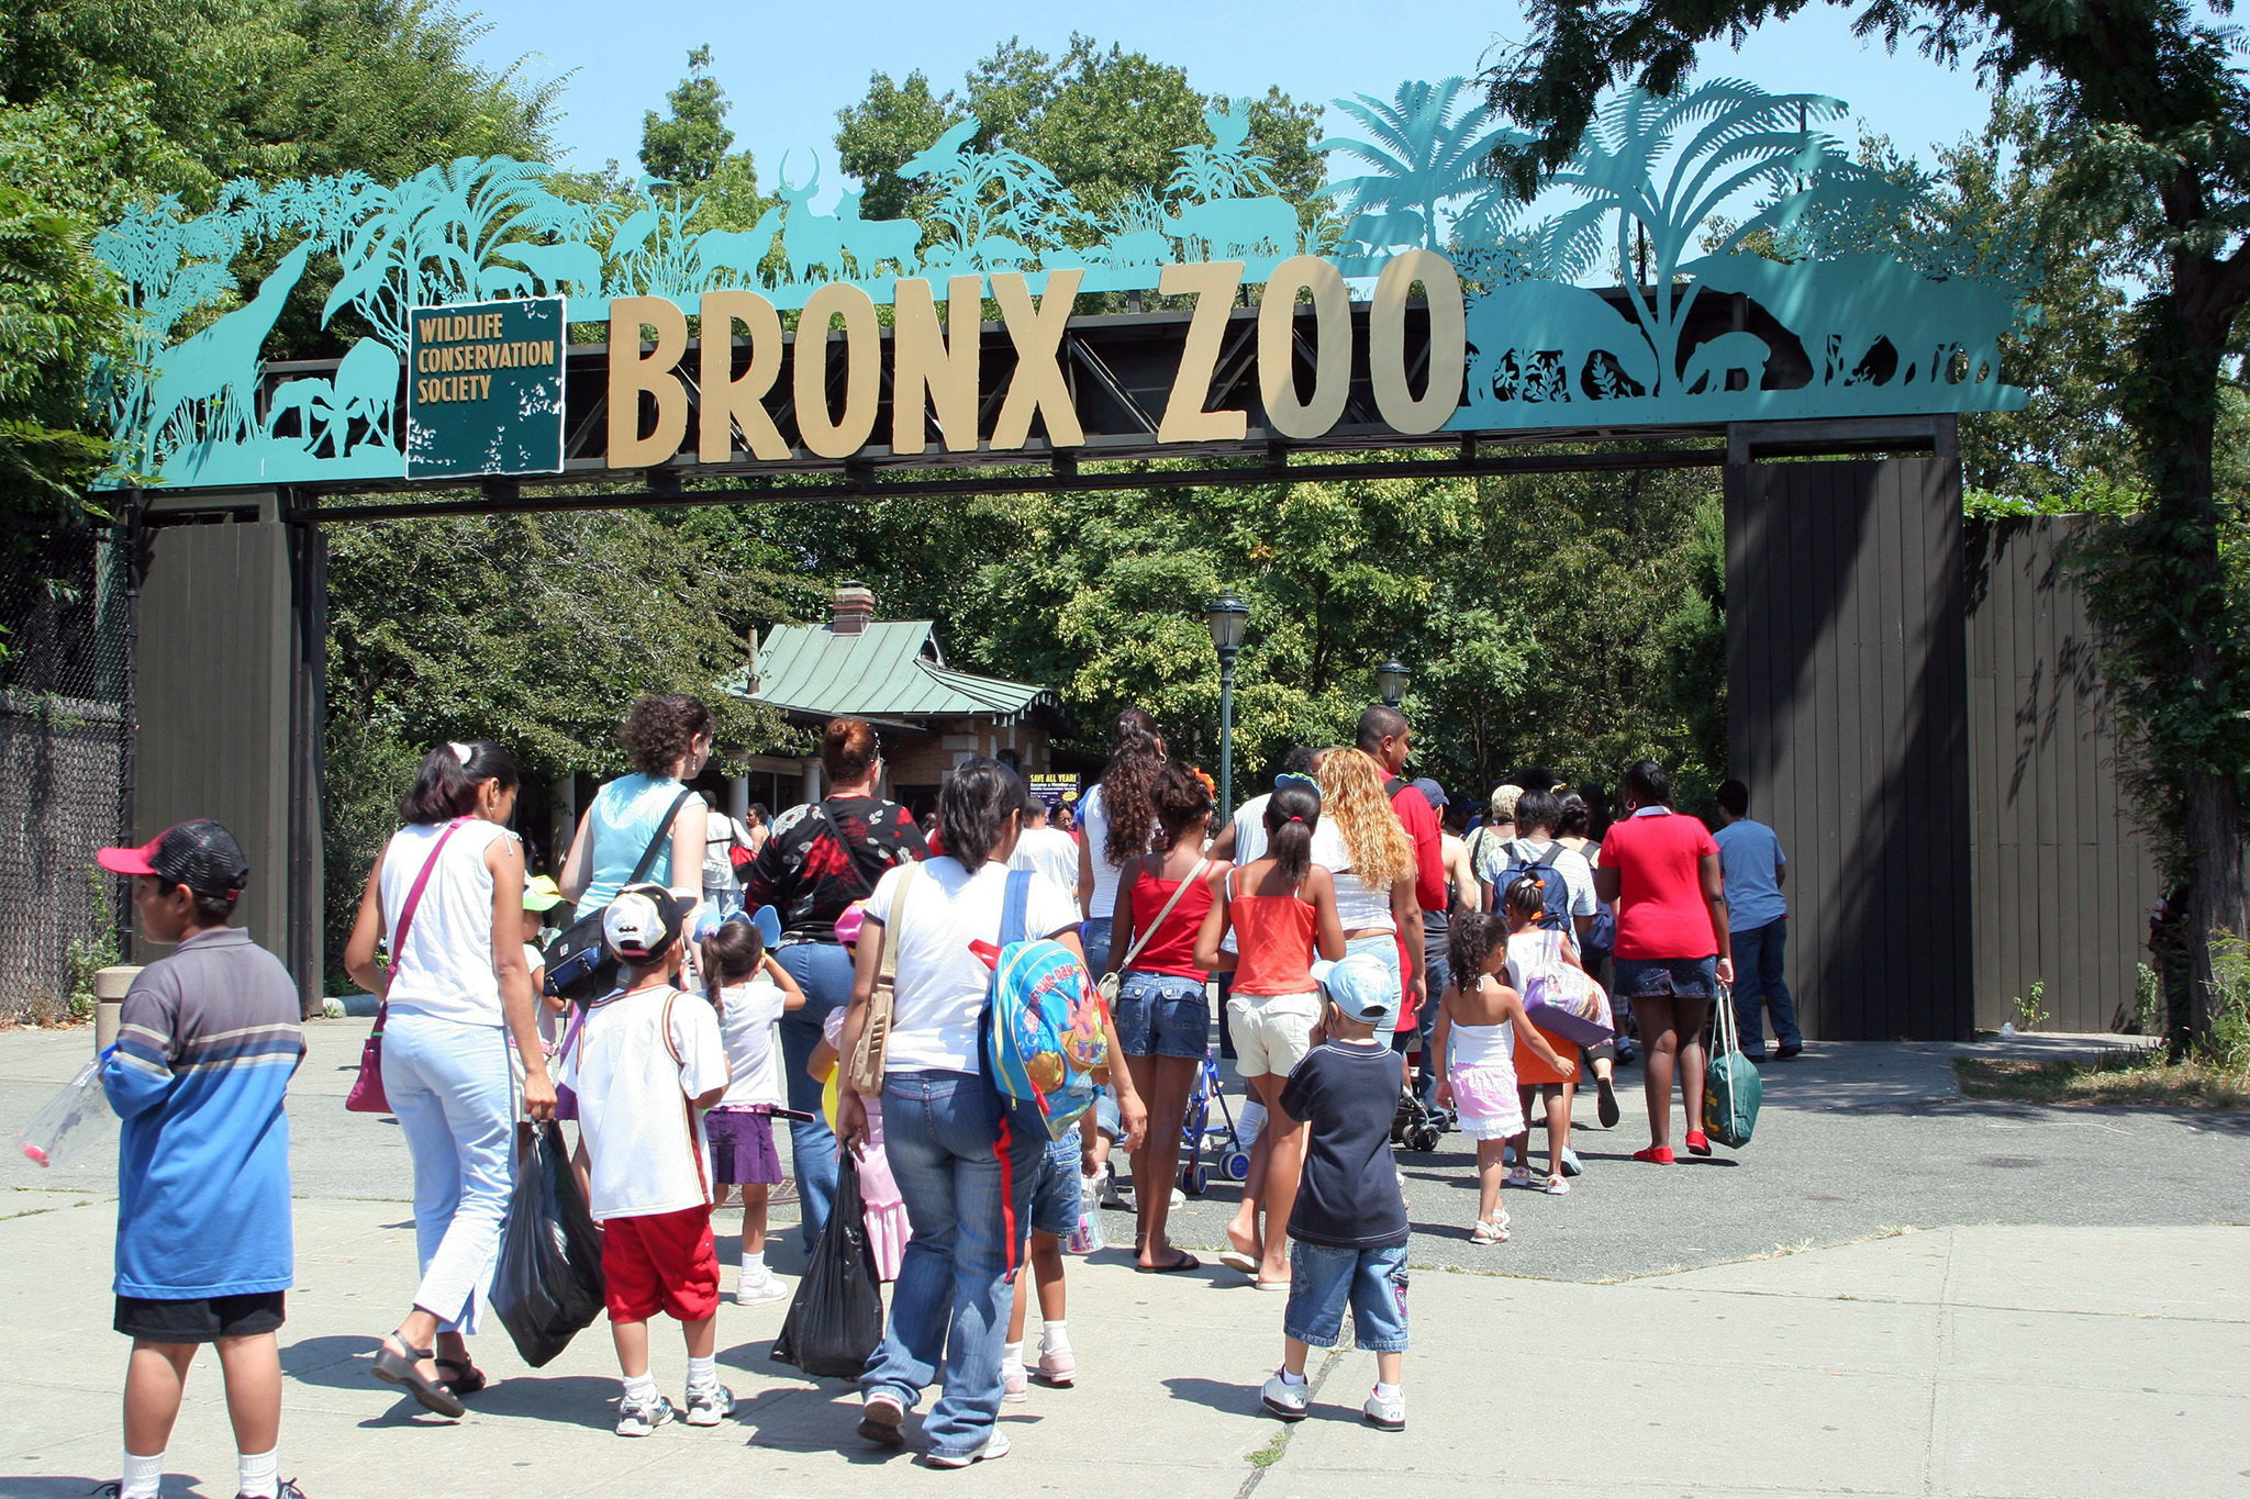
<svg viewBox="0 0 2250 1499">
<path fill-rule="evenodd" d="M 178 942 L 133 980 L 101 1088 L 117 1142 L 117 1330 L 126 1366 L 124 1477 L 110 1499 L 155 1499 L 180 1387 L 218 1344 L 241 1454 L 238 1495 L 304 1499 L 279 1479 L 281 1297 L 295 1279 L 288 1081 L 304 1061 L 297 984 L 272 953 L 227 928 L 250 879 L 218 823 L 166 827 L 137 850 L 101 850 L 133 876 L 151 942 Z"/>
</svg>

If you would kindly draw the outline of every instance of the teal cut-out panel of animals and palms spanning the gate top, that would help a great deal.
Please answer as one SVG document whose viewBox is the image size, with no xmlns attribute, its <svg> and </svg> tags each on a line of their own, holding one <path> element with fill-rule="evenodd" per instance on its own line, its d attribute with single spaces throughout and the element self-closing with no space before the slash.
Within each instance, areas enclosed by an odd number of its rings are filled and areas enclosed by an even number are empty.
<svg viewBox="0 0 2250 1499">
<path fill-rule="evenodd" d="M 783 160 L 781 207 L 747 229 L 709 222 L 700 196 L 666 182 L 644 178 L 587 202 L 556 193 L 554 169 L 506 157 L 461 157 L 398 184 L 360 173 L 232 182 L 196 216 L 171 198 L 142 205 L 94 245 L 126 288 L 137 342 L 133 364 L 97 391 L 119 440 L 108 483 L 556 472 L 560 364 L 533 380 L 531 366 L 425 371 L 421 360 L 529 342 L 551 344 L 560 360 L 565 317 L 608 321 L 619 301 L 634 330 L 612 330 L 612 348 L 637 348 L 652 310 L 677 337 L 659 337 L 657 353 L 630 371 L 646 384 L 616 387 L 612 369 L 612 393 L 648 391 L 659 414 L 680 411 L 691 378 L 680 369 L 684 317 L 709 326 L 724 312 L 752 328 L 754 346 L 756 328 L 770 328 L 778 346 L 781 312 L 819 299 L 824 319 L 842 312 L 846 328 L 868 335 L 875 303 L 898 306 L 898 326 L 911 321 L 936 339 L 927 308 L 952 294 L 954 279 L 963 288 L 974 279 L 974 294 L 1012 306 L 1010 333 L 1042 351 L 1053 351 L 1060 328 L 1028 299 L 1048 288 L 1154 290 L 1224 306 L 1242 285 L 1287 283 L 1276 297 L 1294 303 L 1312 292 L 1323 328 L 1348 326 L 1336 312 L 1372 297 L 1377 405 L 1408 436 L 2025 405 L 2025 391 L 2000 375 L 2000 339 L 2020 317 L 2030 263 L 2005 225 L 1953 238 L 1915 229 L 1937 218 L 1919 211 L 1922 189 L 1861 166 L 1825 130 L 1845 115 L 1838 99 L 1726 79 L 1674 97 L 1622 90 L 1546 178 L 1539 205 L 1557 207 L 1544 216 L 1480 171 L 1494 146 L 1519 137 L 1467 79 L 1336 99 L 1346 128 L 1321 142 L 1330 182 L 1307 202 L 1278 193 L 1274 162 L 1251 148 L 1249 108 L 1249 99 L 1215 106 L 1199 139 L 1174 148 L 1161 189 L 1100 207 L 1019 151 L 981 146 L 976 121 L 954 124 L 904 164 L 929 205 L 922 218 L 862 218 L 857 187 L 814 207 L 826 196 L 817 155 L 803 182 Z M 250 263 L 272 270 L 245 285 L 236 267 Z M 281 306 L 331 265 L 322 317 L 351 308 L 371 333 L 331 378 L 274 384 L 263 351 Z M 702 299 L 716 294 L 727 294 L 724 306 L 706 310 Z M 1408 297 L 1431 319 L 1429 366 L 1413 380 L 1393 369 Z M 1726 317 L 1712 315 L 1714 299 Z M 428 337 L 416 321 L 436 312 L 497 312 L 502 333 Z M 1289 330 L 1276 333 L 1285 348 Z M 898 384 L 898 371 L 855 371 L 878 351 L 862 335 L 835 357 L 864 409 L 850 420 L 848 398 L 846 416 L 819 436 L 801 431 L 806 452 L 828 458 L 839 456 L 830 447 L 853 443 L 880 452 L 889 436 L 873 431 L 871 402 L 880 380 Z M 1321 342 L 1323 369 L 1348 378 L 1350 351 Z M 922 375 L 934 369 L 932 351 L 940 346 L 916 355 Z M 1260 405 L 1202 414 L 1195 387 L 1208 387 L 1208 360 L 1210 348 L 1186 335 L 1172 391 L 1179 420 L 1168 418 L 1161 434 L 1184 454 L 1199 440 L 1240 440 L 1244 418 L 1292 440 L 1318 438 L 1339 420 L 1341 384 L 1323 382 L 1300 400 L 1264 371 Z M 1022 447 L 1033 405 L 1051 440 L 1076 427 L 1069 391 L 1044 375 L 1046 364 L 1019 366 L 1019 380 L 1033 382 L 1015 391 L 1026 396 L 1022 420 L 1001 423 L 990 440 L 970 434 L 972 443 Z M 828 387 L 826 366 L 758 369 L 765 384 L 745 402 L 785 402 L 796 391 L 803 429 L 812 407 L 803 391 Z M 758 458 L 803 456 L 776 452 L 778 436 L 760 447 L 754 429 L 770 431 L 772 420 L 760 423 L 754 405 L 736 418 Z M 632 438 L 623 461 L 619 427 L 610 431 L 612 467 L 662 463 L 677 447 Z M 724 449 L 706 461 L 736 458 Z"/>
</svg>

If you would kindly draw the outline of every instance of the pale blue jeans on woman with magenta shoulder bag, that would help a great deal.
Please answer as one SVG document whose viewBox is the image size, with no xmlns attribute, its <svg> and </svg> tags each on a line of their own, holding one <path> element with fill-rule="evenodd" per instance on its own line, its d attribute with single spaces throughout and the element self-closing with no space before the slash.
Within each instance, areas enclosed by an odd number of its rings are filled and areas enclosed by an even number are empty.
<svg viewBox="0 0 2250 1499">
<path fill-rule="evenodd" d="M 414 1306 L 475 1333 L 515 1187 L 515 1076 L 506 1032 L 416 1011 L 382 1027 L 382 1090 L 414 1155 Z"/>
</svg>

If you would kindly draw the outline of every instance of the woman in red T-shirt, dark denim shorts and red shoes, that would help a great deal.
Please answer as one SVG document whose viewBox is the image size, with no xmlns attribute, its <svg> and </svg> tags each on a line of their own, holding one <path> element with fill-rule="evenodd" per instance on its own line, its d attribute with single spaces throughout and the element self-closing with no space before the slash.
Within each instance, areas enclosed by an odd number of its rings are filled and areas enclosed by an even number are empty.
<svg viewBox="0 0 2250 1499">
<path fill-rule="evenodd" d="M 1703 1014 L 1735 982 L 1726 939 L 1719 845 L 1699 818 L 1672 811 L 1672 775 L 1638 760 L 1620 787 L 1624 816 L 1609 825 L 1593 892 L 1618 906 L 1613 993 L 1640 1018 L 1647 1047 L 1649 1148 L 1634 1160 L 1672 1164 L 1672 1074 L 1688 1106 L 1688 1153 L 1703 1137 Z"/>
</svg>

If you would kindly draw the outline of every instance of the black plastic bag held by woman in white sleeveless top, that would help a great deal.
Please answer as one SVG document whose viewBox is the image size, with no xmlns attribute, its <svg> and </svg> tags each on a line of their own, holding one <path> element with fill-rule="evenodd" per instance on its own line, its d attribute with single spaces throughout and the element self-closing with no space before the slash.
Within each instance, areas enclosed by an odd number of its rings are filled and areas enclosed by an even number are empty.
<svg viewBox="0 0 2250 1499">
<path fill-rule="evenodd" d="M 562 1126 L 533 1126 L 500 1232 L 493 1312 L 533 1369 L 551 1362 L 603 1308 L 601 1232 L 578 1193 Z"/>
</svg>

